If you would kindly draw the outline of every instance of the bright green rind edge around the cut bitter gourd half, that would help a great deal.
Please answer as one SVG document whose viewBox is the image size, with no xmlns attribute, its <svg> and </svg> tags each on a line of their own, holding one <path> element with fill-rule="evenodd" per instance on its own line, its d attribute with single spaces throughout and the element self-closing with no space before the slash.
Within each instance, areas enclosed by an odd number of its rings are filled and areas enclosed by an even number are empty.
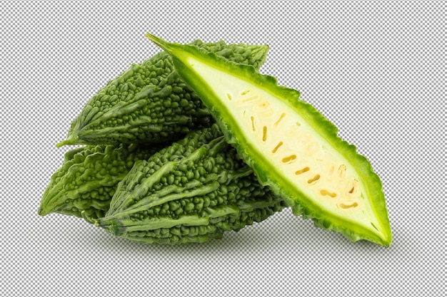
<svg viewBox="0 0 447 297">
<path fill-rule="evenodd" d="M 161 38 L 153 36 L 151 34 L 146 34 L 146 37 L 151 41 L 154 41 L 157 45 L 164 49 L 164 51 L 171 53 L 173 56 L 174 66 L 177 68 L 177 71 L 181 78 L 189 84 L 190 88 L 192 88 L 199 95 L 207 94 L 206 96 L 201 95 L 202 100 L 204 100 L 205 105 L 211 110 L 216 118 L 216 122 L 221 127 L 222 132 L 226 136 L 226 140 L 228 143 L 231 143 L 236 147 L 239 155 L 243 158 L 243 160 L 253 168 L 258 180 L 261 184 L 265 186 L 270 186 L 276 194 L 281 195 L 284 201 L 292 208 L 293 214 L 295 215 L 303 215 L 304 219 L 312 219 L 314 224 L 318 227 L 327 230 L 338 231 L 344 236 L 346 236 L 351 241 L 358 241 L 361 239 L 366 239 L 368 241 L 373 241 L 377 244 L 381 244 L 383 246 L 390 246 L 392 241 L 391 235 L 391 226 L 389 224 L 388 219 L 388 210 L 386 209 L 385 197 L 383 194 L 383 187 L 381 183 L 381 179 L 378 175 L 373 172 L 371 163 L 366 159 L 366 157 L 359 155 L 356 152 L 356 147 L 354 145 L 350 145 L 348 142 L 341 140 L 341 137 L 338 137 L 338 129 L 333 123 L 327 120 L 321 113 L 318 112 L 311 104 L 305 103 L 303 100 L 299 100 L 300 93 L 298 90 L 293 90 L 291 88 L 286 88 L 284 86 L 278 85 L 276 78 L 271 75 L 263 75 L 258 73 L 253 66 L 246 66 L 243 64 L 233 63 L 231 61 L 226 61 L 223 58 L 220 58 L 214 53 L 210 53 L 207 51 L 202 51 L 200 48 L 196 46 L 188 46 L 181 45 L 179 43 L 168 43 Z M 301 115 L 308 115 L 308 120 L 313 127 L 316 127 L 318 132 L 321 132 L 321 135 L 326 137 L 328 142 L 336 145 L 337 150 L 341 152 L 343 157 L 346 157 L 347 160 L 351 162 L 351 164 L 356 167 L 358 174 L 363 178 L 368 180 L 366 183 L 367 192 L 369 194 L 368 197 L 372 198 L 372 205 L 374 207 L 375 214 L 378 214 L 379 221 L 382 224 L 382 229 L 384 230 L 383 238 L 377 236 L 371 231 L 365 232 L 361 226 L 356 226 L 353 228 L 353 222 L 347 221 L 343 218 L 337 218 L 337 220 L 325 219 L 324 214 L 327 212 L 322 211 L 318 205 L 313 204 L 311 200 L 308 202 L 301 202 L 300 200 L 303 197 L 299 197 L 295 191 L 291 192 L 287 189 L 283 189 L 278 187 L 276 182 L 274 182 L 275 178 L 271 178 L 273 170 L 269 168 L 263 167 L 262 162 L 257 162 L 256 160 L 265 159 L 261 155 L 257 155 L 256 157 L 251 157 L 246 153 L 246 149 L 251 147 L 251 145 L 247 143 L 238 142 L 237 138 L 234 135 L 242 134 L 241 129 L 239 129 L 237 124 L 231 125 L 228 121 L 224 120 L 224 117 L 221 113 L 218 112 L 219 109 L 225 110 L 224 105 L 221 105 L 220 108 L 214 108 L 214 105 L 219 104 L 219 100 L 215 100 L 213 98 L 214 94 L 210 92 L 207 88 L 206 83 L 203 81 L 199 81 L 194 79 L 194 74 L 191 73 L 188 66 L 185 66 L 184 63 L 179 59 L 176 55 L 185 55 L 185 53 L 189 53 L 196 58 L 200 57 L 200 60 L 204 63 L 212 64 L 216 66 L 216 61 L 218 61 L 219 68 L 224 69 L 227 73 L 232 73 L 232 75 L 237 75 L 239 78 L 249 78 L 249 81 L 255 84 L 258 84 L 266 91 L 270 91 L 270 89 L 275 89 L 275 95 L 280 95 L 284 100 L 291 103 L 291 106 L 297 110 Z M 204 91 L 201 91 L 204 90 Z M 315 125 L 317 124 L 318 125 Z M 256 151 L 256 150 L 254 150 Z M 270 177 L 269 177 L 270 175 Z M 276 177 L 278 179 L 278 177 Z M 304 206 L 306 204 L 306 206 Z M 307 205 L 310 205 L 308 207 Z M 326 216 L 331 218 L 332 215 Z M 337 224 L 342 222 L 342 224 Z"/>
</svg>

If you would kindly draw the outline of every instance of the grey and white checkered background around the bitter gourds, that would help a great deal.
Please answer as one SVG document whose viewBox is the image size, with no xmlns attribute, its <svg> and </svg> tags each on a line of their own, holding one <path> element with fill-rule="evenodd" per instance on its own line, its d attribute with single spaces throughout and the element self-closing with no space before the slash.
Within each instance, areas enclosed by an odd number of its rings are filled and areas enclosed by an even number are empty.
<svg viewBox="0 0 447 297">
<path fill-rule="evenodd" d="M 443 1 L 1 3 L 2 296 L 441 296 L 446 293 Z M 261 72 L 301 90 L 371 160 L 393 244 L 351 243 L 286 209 L 224 239 L 146 246 L 37 208 L 69 123 L 159 51 L 144 38 L 267 43 Z M 5 295 L 4 295 L 5 294 Z"/>
</svg>

